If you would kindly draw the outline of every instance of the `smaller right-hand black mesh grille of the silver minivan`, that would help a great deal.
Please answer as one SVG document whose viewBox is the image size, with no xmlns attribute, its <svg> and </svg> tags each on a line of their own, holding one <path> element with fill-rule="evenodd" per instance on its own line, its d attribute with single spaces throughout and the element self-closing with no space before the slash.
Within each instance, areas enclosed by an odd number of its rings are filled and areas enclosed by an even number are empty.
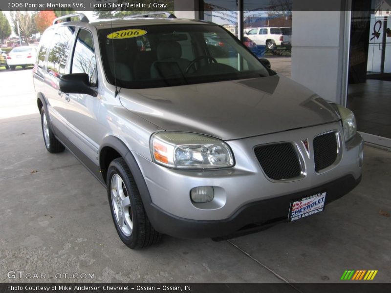
<svg viewBox="0 0 391 293">
<path fill-rule="evenodd" d="M 314 138 L 315 171 L 331 166 L 338 156 L 336 132 L 329 132 Z"/>
</svg>

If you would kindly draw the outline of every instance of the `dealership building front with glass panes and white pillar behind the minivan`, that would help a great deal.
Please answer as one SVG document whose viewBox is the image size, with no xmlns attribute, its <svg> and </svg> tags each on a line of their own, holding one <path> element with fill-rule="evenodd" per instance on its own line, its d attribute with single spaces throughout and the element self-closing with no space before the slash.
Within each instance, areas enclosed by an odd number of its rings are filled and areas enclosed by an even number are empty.
<svg viewBox="0 0 391 293">
<path fill-rule="evenodd" d="M 282 60 L 293 80 L 353 110 L 365 141 L 391 147 L 391 0 L 174 0 L 174 8 L 239 39 L 254 27 L 292 27 L 291 48 L 266 50 L 272 69 Z"/>
</svg>

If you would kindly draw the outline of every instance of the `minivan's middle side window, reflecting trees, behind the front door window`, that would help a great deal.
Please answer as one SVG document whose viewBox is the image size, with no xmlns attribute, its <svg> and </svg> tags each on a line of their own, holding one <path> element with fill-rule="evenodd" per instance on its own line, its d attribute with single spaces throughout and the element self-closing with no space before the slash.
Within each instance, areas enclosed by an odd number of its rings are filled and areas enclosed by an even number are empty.
<svg viewBox="0 0 391 293">
<path fill-rule="evenodd" d="M 54 45 L 49 49 L 47 72 L 57 78 L 66 73 L 65 68 L 74 32 L 74 26 L 61 26 L 55 31 L 54 38 L 50 40 Z"/>
</svg>

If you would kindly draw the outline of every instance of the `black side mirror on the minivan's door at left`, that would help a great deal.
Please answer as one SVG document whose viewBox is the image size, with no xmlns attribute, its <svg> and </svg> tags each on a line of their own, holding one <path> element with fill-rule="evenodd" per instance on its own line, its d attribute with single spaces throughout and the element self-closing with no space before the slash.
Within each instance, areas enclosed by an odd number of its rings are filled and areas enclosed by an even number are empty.
<svg viewBox="0 0 391 293">
<path fill-rule="evenodd" d="M 87 94 L 96 97 L 98 93 L 91 88 L 87 73 L 64 74 L 60 78 L 60 90 L 66 94 Z"/>
</svg>

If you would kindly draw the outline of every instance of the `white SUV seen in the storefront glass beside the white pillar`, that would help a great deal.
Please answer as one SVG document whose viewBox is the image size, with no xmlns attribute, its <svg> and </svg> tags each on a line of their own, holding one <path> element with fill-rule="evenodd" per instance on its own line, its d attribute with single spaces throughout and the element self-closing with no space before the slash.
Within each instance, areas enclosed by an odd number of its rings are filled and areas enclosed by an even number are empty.
<svg viewBox="0 0 391 293">
<path fill-rule="evenodd" d="M 291 27 L 255 27 L 244 34 L 257 45 L 266 45 L 270 50 L 275 50 L 277 46 L 290 46 L 292 40 Z"/>
</svg>

